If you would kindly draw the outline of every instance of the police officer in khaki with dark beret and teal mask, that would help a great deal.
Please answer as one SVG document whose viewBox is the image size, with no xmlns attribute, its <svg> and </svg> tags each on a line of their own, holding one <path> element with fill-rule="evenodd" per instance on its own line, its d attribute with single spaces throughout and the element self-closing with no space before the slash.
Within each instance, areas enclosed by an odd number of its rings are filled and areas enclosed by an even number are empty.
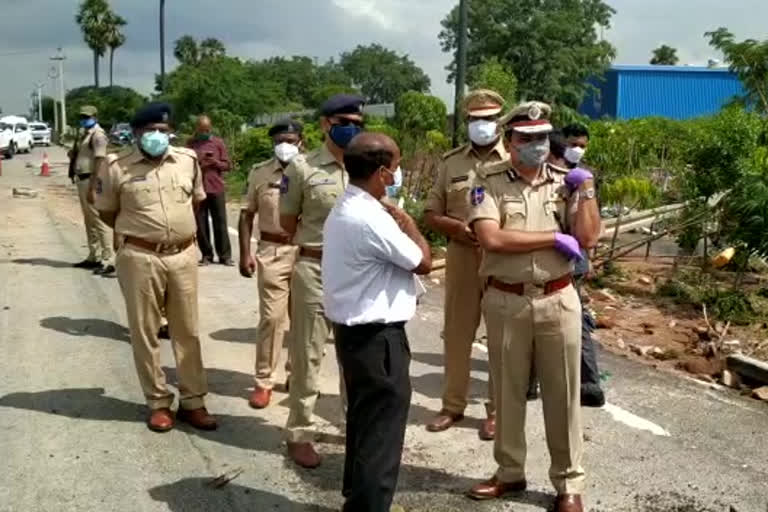
<svg viewBox="0 0 768 512">
<path fill-rule="evenodd" d="M 205 409 L 208 386 L 197 322 L 194 208 L 205 198 L 194 151 L 169 146 L 170 107 L 149 104 L 131 121 L 138 148 L 109 155 L 96 183 L 96 207 L 122 246 L 116 266 L 125 298 L 139 382 L 151 409 L 150 429 L 173 428 L 173 393 L 160 366 L 157 331 L 164 311 L 176 357 L 177 418 L 205 430 L 216 420 Z"/>
</svg>

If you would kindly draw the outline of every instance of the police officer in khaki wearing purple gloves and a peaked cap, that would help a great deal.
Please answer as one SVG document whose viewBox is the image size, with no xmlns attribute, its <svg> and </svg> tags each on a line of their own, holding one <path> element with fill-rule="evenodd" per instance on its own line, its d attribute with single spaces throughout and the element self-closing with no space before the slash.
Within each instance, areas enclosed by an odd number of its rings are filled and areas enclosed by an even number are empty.
<svg viewBox="0 0 768 512">
<path fill-rule="evenodd" d="M 572 284 L 581 248 L 600 231 L 592 176 L 546 163 L 548 105 L 523 103 L 502 123 L 510 161 L 485 169 L 472 189 L 469 222 L 486 251 L 483 313 L 497 400 L 495 476 L 476 499 L 522 491 L 531 363 L 541 382 L 544 424 L 557 491 L 555 512 L 581 512 L 581 307 Z M 573 236 L 566 233 L 571 233 Z"/>
</svg>

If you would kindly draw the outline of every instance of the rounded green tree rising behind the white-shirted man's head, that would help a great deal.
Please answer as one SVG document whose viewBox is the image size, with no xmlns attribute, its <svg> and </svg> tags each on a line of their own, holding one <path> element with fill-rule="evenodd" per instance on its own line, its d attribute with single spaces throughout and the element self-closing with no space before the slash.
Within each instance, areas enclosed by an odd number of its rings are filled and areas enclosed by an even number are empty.
<svg viewBox="0 0 768 512">
<path fill-rule="evenodd" d="M 342 69 L 371 103 L 391 103 L 406 91 L 427 92 L 429 77 L 407 55 L 379 44 L 341 54 Z"/>
</svg>

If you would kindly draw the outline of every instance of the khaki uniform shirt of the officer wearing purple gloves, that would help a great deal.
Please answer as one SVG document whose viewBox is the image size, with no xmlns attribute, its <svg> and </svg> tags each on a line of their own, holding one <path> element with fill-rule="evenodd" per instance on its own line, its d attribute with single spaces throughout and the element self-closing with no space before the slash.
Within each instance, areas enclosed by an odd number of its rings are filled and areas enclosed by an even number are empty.
<svg viewBox="0 0 768 512">
<path fill-rule="evenodd" d="M 490 219 L 504 231 L 568 230 L 566 169 L 545 164 L 532 183 L 508 163 L 487 169 L 471 192 L 468 222 Z M 485 252 L 480 275 L 507 283 L 544 284 L 573 272 L 573 263 L 554 248 L 511 254 Z"/>
</svg>

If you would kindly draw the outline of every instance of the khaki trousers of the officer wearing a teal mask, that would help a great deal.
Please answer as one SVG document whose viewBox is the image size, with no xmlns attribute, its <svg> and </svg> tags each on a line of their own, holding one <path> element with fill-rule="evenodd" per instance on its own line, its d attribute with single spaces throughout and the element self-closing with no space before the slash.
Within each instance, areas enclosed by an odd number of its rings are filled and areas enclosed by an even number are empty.
<svg viewBox="0 0 768 512">
<path fill-rule="evenodd" d="M 117 254 L 117 278 L 125 297 L 136 372 L 151 409 L 170 407 L 173 393 L 160 366 L 157 331 L 168 318 L 176 358 L 180 406 L 203 407 L 208 384 L 200 354 L 197 322 L 197 248 L 159 255 L 132 245 Z"/>
</svg>

